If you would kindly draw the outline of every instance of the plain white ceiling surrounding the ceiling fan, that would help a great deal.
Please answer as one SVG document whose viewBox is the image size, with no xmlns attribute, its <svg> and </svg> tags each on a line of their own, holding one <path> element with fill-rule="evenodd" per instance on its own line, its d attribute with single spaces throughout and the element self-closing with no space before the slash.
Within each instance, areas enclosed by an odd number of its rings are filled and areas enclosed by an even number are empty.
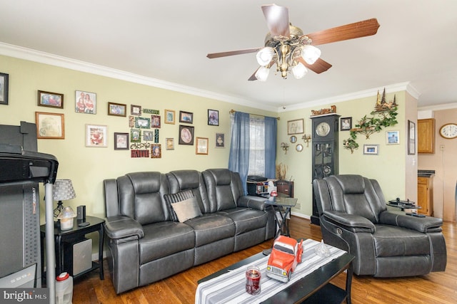
<svg viewBox="0 0 457 304">
<path fill-rule="evenodd" d="M 246 0 L 0 0 L 0 42 L 274 108 L 409 82 L 418 106 L 457 102 L 457 1 L 278 0 L 304 33 L 376 18 L 374 36 L 319 46 L 328 71 L 301 80 L 258 68 L 261 5 Z M 1 63 L 0 63 L 1 72 Z"/>
</svg>

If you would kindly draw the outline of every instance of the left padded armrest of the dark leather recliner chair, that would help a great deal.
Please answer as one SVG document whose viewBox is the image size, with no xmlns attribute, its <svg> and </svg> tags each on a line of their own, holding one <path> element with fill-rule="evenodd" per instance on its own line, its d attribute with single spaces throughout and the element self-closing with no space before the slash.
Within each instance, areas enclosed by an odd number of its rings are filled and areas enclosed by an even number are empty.
<svg viewBox="0 0 457 304">
<path fill-rule="evenodd" d="M 363 216 L 358 216 L 355 214 L 346 214 L 340 211 L 323 211 L 323 216 L 328 219 L 328 221 L 341 226 L 341 228 L 348 229 L 354 232 L 370 232 L 373 233 L 376 231 L 374 224 Z"/>
</svg>

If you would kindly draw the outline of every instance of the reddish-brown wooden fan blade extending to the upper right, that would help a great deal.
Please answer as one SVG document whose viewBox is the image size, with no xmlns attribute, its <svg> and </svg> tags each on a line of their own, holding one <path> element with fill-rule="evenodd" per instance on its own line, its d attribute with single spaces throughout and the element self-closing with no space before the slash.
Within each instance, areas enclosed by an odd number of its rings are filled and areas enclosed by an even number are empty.
<svg viewBox="0 0 457 304">
<path fill-rule="evenodd" d="M 345 26 L 328 28 L 323 31 L 307 34 L 306 36 L 311 38 L 311 44 L 313 46 L 318 46 L 319 44 L 371 36 L 376 34 L 378 28 L 378 20 L 373 18 L 356 23 L 346 24 Z"/>
</svg>

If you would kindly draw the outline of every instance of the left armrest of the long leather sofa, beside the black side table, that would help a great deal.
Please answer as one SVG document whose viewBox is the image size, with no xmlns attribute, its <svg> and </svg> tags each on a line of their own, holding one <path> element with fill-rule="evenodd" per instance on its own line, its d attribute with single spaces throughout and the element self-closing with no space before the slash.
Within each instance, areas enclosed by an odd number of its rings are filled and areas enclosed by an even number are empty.
<svg viewBox="0 0 457 304">
<path fill-rule="evenodd" d="M 105 232 L 109 239 L 123 239 L 135 236 L 136 239 L 144 237 L 141 224 L 128 216 L 109 216 L 105 219 Z"/>
</svg>

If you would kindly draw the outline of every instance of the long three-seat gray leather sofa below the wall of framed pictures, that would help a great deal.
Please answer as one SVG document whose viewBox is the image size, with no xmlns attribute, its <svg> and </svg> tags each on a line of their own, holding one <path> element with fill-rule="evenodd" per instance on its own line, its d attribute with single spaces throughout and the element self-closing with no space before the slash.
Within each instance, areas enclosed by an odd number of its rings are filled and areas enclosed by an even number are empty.
<svg viewBox="0 0 457 304">
<path fill-rule="evenodd" d="M 104 200 L 116 293 L 256 245 L 275 233 L 265 199 L 245 196 L 238 173 L 228 169 L 135 172 L 105 179 Z M 196 210 L 184 221 L 176 203 L 189 201 Z"/>
</svg>

